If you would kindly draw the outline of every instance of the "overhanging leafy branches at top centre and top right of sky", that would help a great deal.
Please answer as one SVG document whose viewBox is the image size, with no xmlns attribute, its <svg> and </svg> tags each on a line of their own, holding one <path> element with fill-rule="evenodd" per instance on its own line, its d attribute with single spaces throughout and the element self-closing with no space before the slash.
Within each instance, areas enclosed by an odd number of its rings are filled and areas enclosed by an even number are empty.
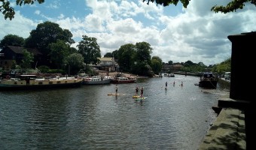
<svg viewBox="0 0 256 150">
<path fill-rule="evenodd" d="M 143 2 L 146 0 L 143 0 Z M 187 5 L 189 5 L 190 0 L 148 0 L 149 2 L 156 2 L 157 5 L 163 5 L 163 7 L 169 6 L 169 5 L 177 5 L 180 1 L 184 8 L 187 8 Z M 245 6 L 246 2 L 251 2 L 251 4 L 256 6 L 256 0 L 232 0 L 230 1 L 226 6 L 213 6 L 211 10 L 215 11 L 215 13 L 222 12 L 222 13 L 230 13 L 233 11 L 236 11 L 237 9 L 242 9 Z"/>
</svg>

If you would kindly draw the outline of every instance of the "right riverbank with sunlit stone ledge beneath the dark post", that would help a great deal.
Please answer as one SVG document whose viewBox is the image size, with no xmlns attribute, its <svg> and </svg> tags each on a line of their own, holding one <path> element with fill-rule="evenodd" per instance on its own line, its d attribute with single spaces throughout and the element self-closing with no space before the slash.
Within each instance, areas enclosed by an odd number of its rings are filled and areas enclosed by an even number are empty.
<svg viewBox="0 0 256 150">
<path fill-rule="evenodd" d="M 230 81 L 220 78 L 219 86 L 230 89 Z M 200 144 L 200 150 L 255 149 L 255 110 L 248 101 L 233 100 L 230 95 L 223 95 L 218 99 L 218 106 L 212 109 L 218 116 Z"/>
</svg>

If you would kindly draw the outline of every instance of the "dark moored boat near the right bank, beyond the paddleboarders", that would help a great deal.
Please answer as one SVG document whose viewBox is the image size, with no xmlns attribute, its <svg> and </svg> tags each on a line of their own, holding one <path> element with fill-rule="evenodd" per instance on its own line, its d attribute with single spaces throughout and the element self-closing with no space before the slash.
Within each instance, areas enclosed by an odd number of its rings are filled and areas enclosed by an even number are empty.
<svg viewBox="0 0 256 150">
<path fill-rule="evenodd" d="M 215 77 L 214 74 L 206 72 L 200 77 L 199 87 L 207 89 L 216 89 L 218 83 L 218 77 Z"/>
</svg>

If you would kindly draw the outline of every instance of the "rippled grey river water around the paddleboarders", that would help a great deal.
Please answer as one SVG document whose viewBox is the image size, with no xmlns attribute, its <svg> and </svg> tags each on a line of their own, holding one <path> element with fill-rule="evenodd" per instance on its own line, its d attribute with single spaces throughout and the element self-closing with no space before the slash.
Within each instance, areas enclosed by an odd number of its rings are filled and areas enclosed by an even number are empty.
<svg viewBox="0 0 256 150">
<path fill-rule="evenodd" d="M 198 81 L 139 79 L 117 85 L 118 96 L 108 96 L 113 84 L 0 92 L 0 149 L 197 149 L 215 121 L 212 107 L 227 95 Z M 136 86 L 148 99 L 133 99 Z"/>
</svg>

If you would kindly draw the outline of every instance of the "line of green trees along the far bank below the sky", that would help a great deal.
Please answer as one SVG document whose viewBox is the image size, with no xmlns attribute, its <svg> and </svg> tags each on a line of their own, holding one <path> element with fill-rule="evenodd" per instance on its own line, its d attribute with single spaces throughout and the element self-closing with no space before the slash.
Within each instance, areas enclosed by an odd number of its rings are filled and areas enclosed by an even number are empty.
<svg viewBox="0 0 256 150">
<path fill-rule="evenodd" d="M 6 35 L 0 42 L 0 48 L 5 49 L 5 46 L 24 47 L 22 62 L 14 61 L 12 69 L 35 68 L 36 66 L 42 73 L 53 71 L 51 73 L 66 74 L 69 72 L 75 75 L 78 72 L 84 72 L 96 74 L 90 65 L 97 65 L 99 63 L 98 58 L 102 57 L 97 39 L 83 35 L 77 48 L 74 48 L 72 44 L 75 43 L 75 40 L 72 37 L 71 31 L 68 29 L 62 29 L 58 24 L 47 21 L 38 24 L 27 38 L 14 34 Z M 26 50 L 28 48 L 38 49 L 42 58 L 34 58 Z M 151 45 L 147 42 L 127 43 L 113 52 L 106 53 L 104 57 L 114 57 L 120 71 L 152 77 L 154 74 L 159 74 L 163 65 L 166 64 L 159 56 L 151 56 L 152 51 Z M 182 68 L 184 71 L 203 71 L 206 69 L 220 71 L 221 68 L 224 68 L 217 67 L 218 65 L 207 67 L 203 65 L 203 62 L 195 64 L 191 61 L 184 63 L 169 61 L 168 64 L 184 65 Z"/>
</svg>

